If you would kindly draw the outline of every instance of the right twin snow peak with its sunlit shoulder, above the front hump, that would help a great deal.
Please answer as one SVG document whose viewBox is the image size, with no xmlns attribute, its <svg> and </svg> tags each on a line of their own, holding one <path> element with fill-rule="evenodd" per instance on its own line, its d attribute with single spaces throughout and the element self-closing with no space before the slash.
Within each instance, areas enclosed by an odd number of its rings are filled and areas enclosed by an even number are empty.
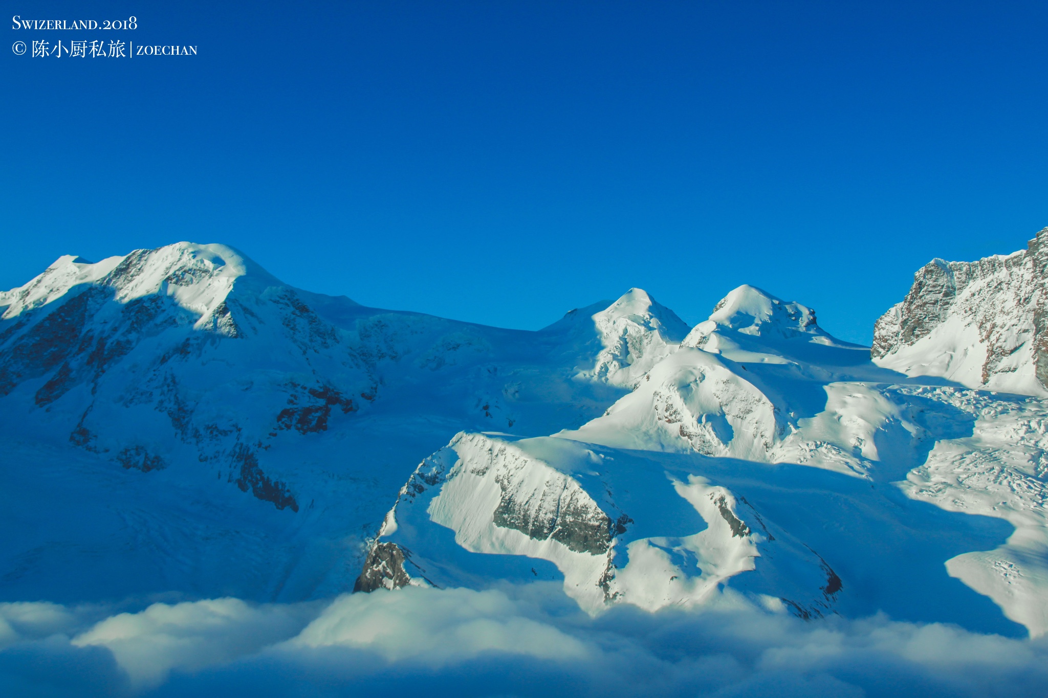
<svg viewBox="0 0 1048 698">
<path fill-rule="evenodd" d="M 909 441 L 919 430 L 888 387 L 899 379 L 822 330 L 810 309 L 743 286 L 631 395 L 556 435 L 866 475 L 880 459 L 878 432 L 895 425 Z"/>
</svg>

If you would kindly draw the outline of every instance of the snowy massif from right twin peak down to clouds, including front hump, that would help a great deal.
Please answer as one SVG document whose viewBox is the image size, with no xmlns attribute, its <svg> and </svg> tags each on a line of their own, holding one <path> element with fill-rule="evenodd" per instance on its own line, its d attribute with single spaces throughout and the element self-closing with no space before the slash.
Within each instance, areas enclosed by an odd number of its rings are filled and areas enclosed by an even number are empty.
<svg viewBox="0 0 1048 698">
<path fill-rule="evenodd" d="M 461 433 L 423 460 L 357 588 L 561 579 L 591 613 L 726 595 L 802 617 L 889 610 L 1016 632 L 1004 609 L 1043 634 L 1041 402 L 869 357 L 810 309 L 740 287 L 604 415 L 553 438 Z M 947 504 L 964 487 L 982 499 Z"/>
</svg>

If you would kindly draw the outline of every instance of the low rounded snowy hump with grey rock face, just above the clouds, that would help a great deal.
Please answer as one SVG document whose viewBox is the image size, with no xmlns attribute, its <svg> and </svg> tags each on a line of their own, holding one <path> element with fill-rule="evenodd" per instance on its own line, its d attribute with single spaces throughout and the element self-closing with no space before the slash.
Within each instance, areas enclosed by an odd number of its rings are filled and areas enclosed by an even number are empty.
<svg viewBox="0 0 1048 698">
<path fill-rule="evenodd" d="M 400 490 L 356 588 L 563 579 L 598 613 L 706 603 L 742 572 L 755 603 L 804 617 L 832 610 L 843 586 L 810 547 L 687 466 L 462 433 Z"/>
</svg>

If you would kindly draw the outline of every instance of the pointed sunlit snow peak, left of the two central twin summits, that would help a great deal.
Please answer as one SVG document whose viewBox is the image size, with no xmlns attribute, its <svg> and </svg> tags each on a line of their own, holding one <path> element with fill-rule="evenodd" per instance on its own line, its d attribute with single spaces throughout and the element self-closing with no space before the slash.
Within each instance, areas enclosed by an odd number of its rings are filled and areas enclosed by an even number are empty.
<svg viewBox="0 0 1048 698">
<path fill-rule="evenodd" d="M 680 344 L 689 328 L 646 291 L 630 289 L 606 310 L 592 315 L 604 348 L 585 375 L 612 385 L 630 386 Z"/>
</svg>

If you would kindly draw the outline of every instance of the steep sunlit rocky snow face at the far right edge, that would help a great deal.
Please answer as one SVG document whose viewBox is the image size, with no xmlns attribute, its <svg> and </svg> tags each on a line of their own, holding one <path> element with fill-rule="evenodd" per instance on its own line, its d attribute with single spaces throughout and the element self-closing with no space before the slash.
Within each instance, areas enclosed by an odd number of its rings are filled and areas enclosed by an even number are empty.
<svg viewBox="0 0 1048 698">
<path fill-rule="evenodd" d="M 910 376 L 1048 396 L 1046 284 L 1048 228 L 1007 256 L 933 260 L 877 320 L 874 360 Z"/>
</svg>

